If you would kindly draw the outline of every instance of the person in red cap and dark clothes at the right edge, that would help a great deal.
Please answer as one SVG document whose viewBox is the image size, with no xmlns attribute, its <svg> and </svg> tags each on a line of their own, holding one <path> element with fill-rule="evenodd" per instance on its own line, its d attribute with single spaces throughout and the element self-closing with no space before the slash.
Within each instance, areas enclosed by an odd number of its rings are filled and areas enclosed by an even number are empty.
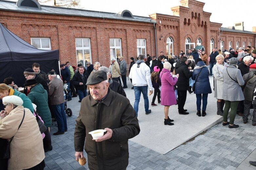
<svg viewBox="0 0 256 170">
<path fill-rule="evenodd" d="M 250 115 L 250 108 L 253 101 L 253 92 L 256 86 L 256 64 L 250 65 L 250 71 L 243 76 L 245 81 L 245 88 L 244 88 L 244 116 L 243 120 L 244 123 L 247 123 L 248 116 Z M 253 107 L 253 120 L 252 125 L 256 126 L 256 108 Z"/>
</svg>

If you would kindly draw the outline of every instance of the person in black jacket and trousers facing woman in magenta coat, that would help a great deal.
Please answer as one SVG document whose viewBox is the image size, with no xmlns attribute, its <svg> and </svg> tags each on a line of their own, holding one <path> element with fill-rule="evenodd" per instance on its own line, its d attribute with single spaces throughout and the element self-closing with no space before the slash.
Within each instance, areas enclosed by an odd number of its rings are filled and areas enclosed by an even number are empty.
<svg viewBox="0 0 256 170">
<path fill-rule="evenodd" d="M 192 76 L 192 72 L 188 70 L 187 57 L 182 57 L 180 62 L 175 65 L 175 73 L 179 74 L 178 81 L 176 83 L 178 91 L 178 110 L 180 115 L 187 115 L 187 109 L 184 109 L 184 105 L 187 99 L 187 89 L 189 87 L 189 78 Z"/>
</svg>

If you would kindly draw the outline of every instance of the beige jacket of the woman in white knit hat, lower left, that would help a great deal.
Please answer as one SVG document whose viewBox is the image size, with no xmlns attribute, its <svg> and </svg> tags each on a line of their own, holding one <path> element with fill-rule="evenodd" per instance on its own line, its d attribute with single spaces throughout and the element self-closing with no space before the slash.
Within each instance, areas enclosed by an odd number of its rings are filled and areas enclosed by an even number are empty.
<svg viewBox="0 0 256 170">
<path fill-rule="evenodd" d="M 23 114 L 24 107 L 18 106 L 8 116 L 0 118 L 0 138 L 10 141 L 10 138 L 14 136 L 10 144 L 11 158 L 8 161 L 10 170 L 29 169 L 45 159 L 43 138 L 38 123 L 27 108 L 25 108 L 25 117 L 18 130 Z"/>
</svg>

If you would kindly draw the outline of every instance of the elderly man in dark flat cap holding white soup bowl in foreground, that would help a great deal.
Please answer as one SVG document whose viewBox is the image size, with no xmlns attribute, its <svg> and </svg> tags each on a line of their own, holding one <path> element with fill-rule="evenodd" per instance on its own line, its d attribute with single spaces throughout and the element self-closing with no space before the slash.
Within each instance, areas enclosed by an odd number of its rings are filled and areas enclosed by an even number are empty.
<svg viewBox="0 0 256 170">
<path fill-rule="evenodd" d="M 89 169 L 125 170 L 129 158 L 128 139 L 140 132 L 135 110 L 126 97 L 108 88 L 104 71 L 91 74 L 86 85 L 90 95 L 82 100 L 74 132 L 76 161 L 84 157 L 85 146 Z M 95 140 L 89 132 L 98 129 L 105 129 L 107 133 Z"/>
</svg>

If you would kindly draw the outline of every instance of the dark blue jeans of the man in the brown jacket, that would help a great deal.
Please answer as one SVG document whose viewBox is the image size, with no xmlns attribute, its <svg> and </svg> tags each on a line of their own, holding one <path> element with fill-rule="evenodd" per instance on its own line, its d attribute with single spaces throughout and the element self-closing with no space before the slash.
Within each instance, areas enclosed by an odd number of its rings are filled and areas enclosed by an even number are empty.
<svg viewBox="0 0 256 170">
<path fill-rule="evenodd" d="M 67 118 L 64 111 L 64 103 L 51 105 L 51 107 L 57 121 L 58 132 L 64 132 L 65 130 L 68 130 Z"/>
</svg>

